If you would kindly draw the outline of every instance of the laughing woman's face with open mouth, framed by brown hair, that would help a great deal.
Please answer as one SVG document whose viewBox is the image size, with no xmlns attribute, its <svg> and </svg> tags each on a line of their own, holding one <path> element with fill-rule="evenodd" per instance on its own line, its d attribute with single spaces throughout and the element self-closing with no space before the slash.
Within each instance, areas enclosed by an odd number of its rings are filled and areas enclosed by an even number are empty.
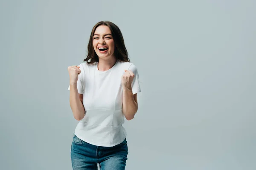
<svg viewBox="0 0 256 170">
<path fill-rule="evenodd" d="M 93 34 L 93 48 L 101 59 L 114 57 L 115 44 L 108 26 L 99 26 Z"/>
</svg>

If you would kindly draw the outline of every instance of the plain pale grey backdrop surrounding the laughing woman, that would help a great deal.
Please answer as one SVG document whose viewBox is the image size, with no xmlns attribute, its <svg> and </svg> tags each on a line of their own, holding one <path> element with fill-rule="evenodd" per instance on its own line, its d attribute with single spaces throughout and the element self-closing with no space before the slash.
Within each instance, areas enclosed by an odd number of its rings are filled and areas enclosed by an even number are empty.
<svg viewBox="0 0 256 170">
<path fill-rule="evenodd" d="M 256 169 L 253 0 L 0 1 L 0 169 L 71 170 L 67 67 L 100 20 L 121 29 L 142 92 L 127 170 Z"/>
</svg>

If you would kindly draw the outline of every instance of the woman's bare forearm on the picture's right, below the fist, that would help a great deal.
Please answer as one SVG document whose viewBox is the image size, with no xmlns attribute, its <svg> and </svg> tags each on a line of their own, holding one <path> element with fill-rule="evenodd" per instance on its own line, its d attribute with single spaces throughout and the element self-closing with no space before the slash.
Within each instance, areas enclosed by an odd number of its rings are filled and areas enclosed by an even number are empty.
<svg viewBox="0 0 256 170">
<path fill-rule="evenodd" d="M 122 112 L 127 120 L 134 118 L 135 113 L 138 110 L 138 105 L 134 100 L 134 95 L 131 90 L 123 89 L 123 106 Z"/>
</svg>

